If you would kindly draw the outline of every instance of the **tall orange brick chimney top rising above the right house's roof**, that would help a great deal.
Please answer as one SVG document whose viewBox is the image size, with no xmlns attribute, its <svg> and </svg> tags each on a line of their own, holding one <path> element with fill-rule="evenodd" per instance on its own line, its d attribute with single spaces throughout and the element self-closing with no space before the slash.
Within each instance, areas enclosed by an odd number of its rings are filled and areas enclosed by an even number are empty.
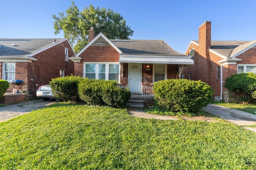
<svg viewBox="0 0 256 170">
<path fill-rule="evenodd" d="M 204 55 L 209 54 L 209 47 L 211 47 L 211 21 L 205 21 L 199 27 L 199 48 Z"/>
</svg>

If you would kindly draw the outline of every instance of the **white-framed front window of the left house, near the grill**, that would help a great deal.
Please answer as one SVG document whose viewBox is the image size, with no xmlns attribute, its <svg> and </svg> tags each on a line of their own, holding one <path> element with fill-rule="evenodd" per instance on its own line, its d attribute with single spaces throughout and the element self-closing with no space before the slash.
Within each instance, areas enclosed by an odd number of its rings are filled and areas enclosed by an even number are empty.
<svg viewBox="0 0 256 170">
<path fill-rule="evenodd" d="M 15 63 L 3 63 L 3 80 L 15 80 Z"/>
</svg>

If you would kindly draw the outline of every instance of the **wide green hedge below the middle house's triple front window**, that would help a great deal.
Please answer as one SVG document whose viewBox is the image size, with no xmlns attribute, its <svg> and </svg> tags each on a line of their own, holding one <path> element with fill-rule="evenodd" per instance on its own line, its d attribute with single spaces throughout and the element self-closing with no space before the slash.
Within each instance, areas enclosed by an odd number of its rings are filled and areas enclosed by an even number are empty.
<svg viewBox="0 0 256 170">
<path fill-rule="evenodd" d="M 86 104 L 124 107 L 130 99 L 130 90 L 117 87 L 115 80 L 84 78 L 78 86 L 80 99 Z"/>
</svg>

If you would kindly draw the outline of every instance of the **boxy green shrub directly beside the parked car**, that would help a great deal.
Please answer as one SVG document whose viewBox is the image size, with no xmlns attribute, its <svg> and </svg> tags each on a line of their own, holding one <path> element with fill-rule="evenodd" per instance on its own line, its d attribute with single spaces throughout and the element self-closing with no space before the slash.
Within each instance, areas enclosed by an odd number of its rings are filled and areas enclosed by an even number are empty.
<svg viewBox="0 0 256 170">
<path fill-rule="evenodd" d="M 78 84 L 80 80 L 82 80 L 80 76 L 53 78 L 50 86 L 56 100 L 60 102 L 81 102 L 78 95 Z"/>
</svg>

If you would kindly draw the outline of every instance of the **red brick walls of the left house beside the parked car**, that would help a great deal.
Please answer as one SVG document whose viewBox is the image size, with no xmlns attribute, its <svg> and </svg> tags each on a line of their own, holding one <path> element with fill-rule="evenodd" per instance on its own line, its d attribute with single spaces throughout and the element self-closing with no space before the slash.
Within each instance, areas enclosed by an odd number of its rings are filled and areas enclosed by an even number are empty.
<svg viewBox="0 0 256 170">
<path fill-rule="evenodd" d="M 33 57 L 37 61 L 16 62 L 15 79 L 23 80 L 22 89 L 27 92 L 26 98 L 36 96 L 37 86 L 49 83 L 52 78 L 60 77 L 60 70 L 64 70 L 65 76 L 74 74 L 74 62 L 65 61 L 65 48 L 68 49 L 68 57 L 74 55 L 73 49 L 68 41 L 63 41 L 45 51 L 42 51 Z M 0 76 L 2 78 L 2 63 L 0 62 Z M 12 84 L 7 92 L 13 89 Z"/>
</svg>

